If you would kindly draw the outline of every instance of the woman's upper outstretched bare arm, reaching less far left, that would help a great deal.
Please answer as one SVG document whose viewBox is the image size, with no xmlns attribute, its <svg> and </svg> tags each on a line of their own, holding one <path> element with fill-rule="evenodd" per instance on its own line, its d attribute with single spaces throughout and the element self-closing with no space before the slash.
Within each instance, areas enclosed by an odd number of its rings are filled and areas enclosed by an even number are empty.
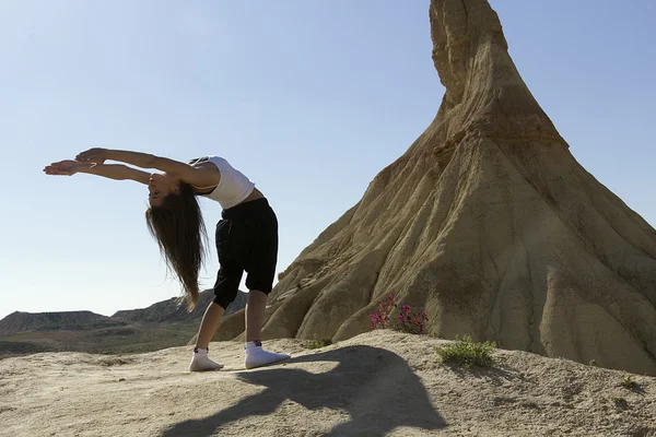
<svg viewBox="0 0 656 437">
<path fill-rule="evenodd" d="M 172 173 L 187 184 L 197 187 L 209 187 L 219 184 L 221 174 L 212 167 L 194 167 L 179 161 L 155 156 L 150 153 L 120 151 L 112 149 L 90 149 L 75 156 L 81 163 L 103 163 L 105 160 L 120 161 L 141 168 L 156 168 L 161 172 Z"/>
</svg>

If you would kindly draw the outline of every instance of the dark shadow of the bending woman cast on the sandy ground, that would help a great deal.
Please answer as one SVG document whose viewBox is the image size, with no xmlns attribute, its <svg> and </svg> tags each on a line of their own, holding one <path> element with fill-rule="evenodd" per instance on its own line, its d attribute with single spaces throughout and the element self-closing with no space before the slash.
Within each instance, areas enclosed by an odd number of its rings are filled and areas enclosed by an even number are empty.
<svg viewBox="0 0 656 437">
<path fill-rule="evenodd" d="M 351 420 L 335 426 L 327 436 L 380 436 L 399 426 L 425 430 L 446 426 L 419 377 L 403 358 L 389 351 L 348 346 L 286 363 L 309 362 L 339 364 L 324 374 L 281 367 L 238 374 L 241 380 L 267 389 L 212 416 L 180 422 L 163 435 L 212 436 L 231 422 L 272 414 L 285 400 L 308 410 L 327 408 L 349 413 Z"/>
</svg>

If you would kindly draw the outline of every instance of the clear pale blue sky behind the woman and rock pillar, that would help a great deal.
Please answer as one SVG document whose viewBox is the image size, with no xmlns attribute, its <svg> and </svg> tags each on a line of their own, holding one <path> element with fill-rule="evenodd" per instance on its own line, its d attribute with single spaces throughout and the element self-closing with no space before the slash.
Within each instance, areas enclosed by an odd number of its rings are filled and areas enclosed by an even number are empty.
<svg viewBox="0 0 656 437">
<path fill-rule="evenodd" d="M 491 1 L 574 156 L 652 225 L 656 3 Z M 0 0 L 0 318 L 177 296 L 147 189 L 44 165 L 91 146 L 219 154 L 280 221 L 278 270 L 434 118 L 429 0 Z M 220 208 L 203 201 L 207 226 Z M 213 284 L 210 253 L 202 283 Z"/>
</svg>

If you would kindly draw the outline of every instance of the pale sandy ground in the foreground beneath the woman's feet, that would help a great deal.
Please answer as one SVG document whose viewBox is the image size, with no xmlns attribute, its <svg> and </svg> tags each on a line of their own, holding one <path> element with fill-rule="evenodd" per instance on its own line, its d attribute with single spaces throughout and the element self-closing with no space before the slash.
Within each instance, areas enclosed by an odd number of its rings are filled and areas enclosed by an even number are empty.
<svg viewBox="0 0 656 437">
<path fill-rule="evenodd" d="M 0 362 L 1 436 L 656 436 L 656 378 L 497 351 L 488 370 L 434 362 L 446 341 L 374 331 L 245 370 L 187 371 L 188 347 Z"/>
</svg>

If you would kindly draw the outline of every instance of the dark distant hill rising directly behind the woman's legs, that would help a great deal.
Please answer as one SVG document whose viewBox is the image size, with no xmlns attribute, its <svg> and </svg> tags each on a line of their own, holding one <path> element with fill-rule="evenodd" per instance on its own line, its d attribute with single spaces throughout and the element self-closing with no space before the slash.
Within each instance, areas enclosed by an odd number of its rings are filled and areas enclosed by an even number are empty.
<svg viewBox="0 0 656 437">
<path fill-rule="evenodd" d="M 151 305 L 148 308 L 141 309 L 129 309 L 117 311 L 113 319 L 120 319 L 126 321 L 148 321 L 148 322 L 162 322 L 162 323 L 177 323 L 192 320 L 202 319 L 206 308 L 214 298 L 213 290 L 206 290 L 200 293 L 198 305 L 194 311 L 188 312 L 185 305 L 178 306 L 176 298 L 172 297 L 168 300 L 162 300 Z M 238 292 L 237 298 L 227 307 L 225 315 L 231 315 L 246 307 L 246 300 L 248 294 Z"/>
</svg>

